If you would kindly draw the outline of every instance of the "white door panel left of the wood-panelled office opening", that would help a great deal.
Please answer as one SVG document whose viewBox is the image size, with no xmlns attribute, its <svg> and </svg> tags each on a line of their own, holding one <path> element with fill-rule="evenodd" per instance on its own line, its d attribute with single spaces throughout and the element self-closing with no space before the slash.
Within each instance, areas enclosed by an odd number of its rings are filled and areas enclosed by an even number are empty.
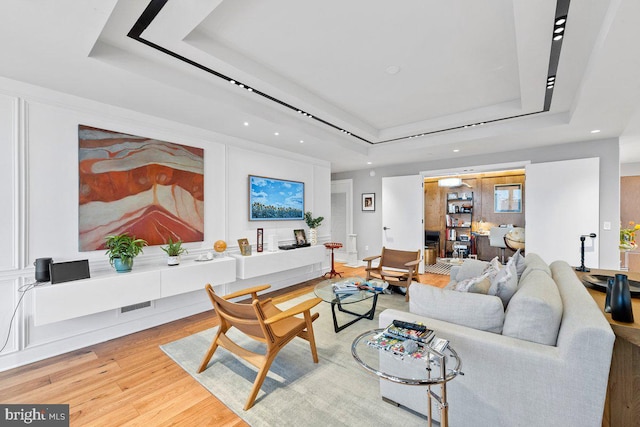
<svg viewBox="0 0 640 427">
<path fill-rule="evenodd" d="M 420 175 L 382 178 L 382 245 L 415 251 L 424 248 L 424 194 Z M 424 272 L 424 263 L 420 263 Z"/>
</svg>

